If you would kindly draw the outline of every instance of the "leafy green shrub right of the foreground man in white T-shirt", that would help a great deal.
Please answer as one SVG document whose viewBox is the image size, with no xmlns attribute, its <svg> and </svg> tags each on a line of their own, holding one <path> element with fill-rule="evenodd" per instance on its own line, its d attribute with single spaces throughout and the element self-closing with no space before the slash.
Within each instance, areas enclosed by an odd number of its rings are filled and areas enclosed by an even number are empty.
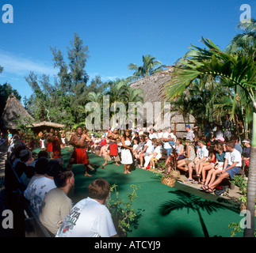
<svg viewBox="0 0 256 253">
<path fill-rule="evenodd" d="M 132 203 L 138 198 L 136 191 L 139 190 L 140 186 L 132 184 L 131 187 L 132 193 L 128 192 L 128 201 L 125 202 L 124 199 L 119 197 L 117 184 L 113 184 L 106 203 L 109 212 L 113 216 L 118 235 L 132 231 L 132 225 L 136 224 L 139 218 L 139 212 L 132 208 Z M 113 193 L 115 193 L 115 196 L 113 196 Z"/>
</svg>

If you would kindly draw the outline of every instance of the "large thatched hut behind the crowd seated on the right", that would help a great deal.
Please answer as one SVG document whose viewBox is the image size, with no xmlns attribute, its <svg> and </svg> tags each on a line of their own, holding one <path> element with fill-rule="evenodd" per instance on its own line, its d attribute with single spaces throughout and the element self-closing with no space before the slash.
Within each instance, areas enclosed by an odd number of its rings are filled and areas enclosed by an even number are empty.
<svg viewBox="0 0 256 253">
<path fill-rule="evenodd" d="M 170 81 L 173 71 L 174 69 L 170 67 L 157 74 L 132 82 L 131 87 L 133 89 L 143 89 L 144 108 L 147 108 L 148 115 L 151 115 L 149 122 L 147 118 L 147 128 L 154 127 L 155 130 L 163 130 L 171 126 L 175 134 L 183 138 L 185 136 L 185 125 L 190 124 L 191 127 L 194 125 L 195 118 L 193 115 L 186 115 L 186 119 L 184 119 L 181 112 L 174 111 L 174 108 L 168 104 L 166 104 L 164 110 L 162 109 L 164 99 L 161 93 L 161 86 L 166 81 Z M 148 123 L 150 123 L 150 126 L 148 126 Z M 146 126 L 145 123 L 143 126 Z"/>
</svg>

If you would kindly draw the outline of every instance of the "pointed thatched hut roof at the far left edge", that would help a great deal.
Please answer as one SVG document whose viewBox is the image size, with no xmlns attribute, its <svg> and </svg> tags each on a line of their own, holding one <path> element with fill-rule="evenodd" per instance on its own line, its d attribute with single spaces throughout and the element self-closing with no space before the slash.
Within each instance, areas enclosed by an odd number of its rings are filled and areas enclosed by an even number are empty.
<svg viewBox="0 0 256 253">
<path fill-rule="evenodd" d="M 29 115 L 29 112 L 22 106 L 21 102 L 11 94 L 8 96 L 6 107 L 0 119 L 2 129 L 17 129 L 18 123 L 15 119 L 20 119 L 21 117 L 34 120 L 32 116 Z"/>
</svg>

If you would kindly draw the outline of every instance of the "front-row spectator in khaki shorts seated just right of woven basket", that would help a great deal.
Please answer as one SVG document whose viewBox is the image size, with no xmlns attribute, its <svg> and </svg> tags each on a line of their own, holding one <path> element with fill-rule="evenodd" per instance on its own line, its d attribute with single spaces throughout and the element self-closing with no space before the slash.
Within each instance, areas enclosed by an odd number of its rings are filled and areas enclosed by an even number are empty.
<svg viewBox="0 0 256 253">
<path fill-rule="evenodd" d="M 184 157 L 185 157 L 184 159 L 178 160 L 177 168 L 181 169 L 184 172 L 189 172 L 189 177 L 188 177 L 188 179 L 185 179 L 185 182 L 193 181 L 192 163 L 193 163 L 193 160 L 196 158 L 196 152 L 195 152 L 192 142 L 189 139 L 185 140 Z M 189 166 L 189 164 L 191 164 L 191 166 Z M 185 166 L 187 166 L 188 168 Z"/>
</svg>

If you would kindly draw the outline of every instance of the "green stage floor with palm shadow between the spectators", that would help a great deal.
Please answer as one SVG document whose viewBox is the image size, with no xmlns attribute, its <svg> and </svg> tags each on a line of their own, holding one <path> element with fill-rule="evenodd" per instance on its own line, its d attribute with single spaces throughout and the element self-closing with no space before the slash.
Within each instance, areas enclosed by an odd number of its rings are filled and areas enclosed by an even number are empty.
<svg viewBox="0 0 256 253">
<path fill-rule="evenodd" d="M 62 149 L 62 157 L 66 166 L 71 152 Z M 89 157 L 91 164 L 104 163 L 102 157 L 91 153 Z M 73 165 L 75 188 L 69 197 L 74 204 L 86 198 L 87 187 L 100 177 L 108 180 L 111 185 L 116 183 L 120 198 L 124 200 L 127 200 L 127 193 L 132 192 L 132 184 L 140 186 L 133 208 L 141 210 L 141 215 L 136 228 L 128 232 L 128 237 L 230 237 L 231 229 L 228 225 L 242 219 L 237 203 L 214 194 L 206 194 L 178 182 L 174 187 L 168 187 L 160 183 L 155 173 L 140 168 L 135 168 L 131 174 L 124 174 L 124 166 L 117 166 L 112 161 L 106 168 L 96 168 L 94 172 L 89 170 L 92 176 L 88 177 L 84 176 L 83 164 Z M 174 206 L 177 208 L 172 210 Z M 167 214 L 163 215 L 164 212 Z M 243 236 L 243 233 L 237 236 Z"/>
</svg>

